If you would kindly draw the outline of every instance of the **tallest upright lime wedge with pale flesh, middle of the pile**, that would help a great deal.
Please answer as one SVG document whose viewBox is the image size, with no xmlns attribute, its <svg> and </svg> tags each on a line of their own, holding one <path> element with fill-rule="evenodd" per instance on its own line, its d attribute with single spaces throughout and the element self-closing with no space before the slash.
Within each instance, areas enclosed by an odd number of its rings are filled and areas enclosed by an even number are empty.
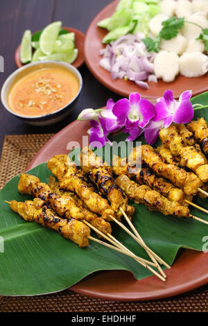
<svg viewBox="0 0 208 326">
<path fill-rule="evenodd" d="M 40 49 L 46 54 L 50 55 L 53 52 L 55 40 L 58 37 L 62 22 L 53 22 L 44 28 L 40 35 Z"/>
</svg>

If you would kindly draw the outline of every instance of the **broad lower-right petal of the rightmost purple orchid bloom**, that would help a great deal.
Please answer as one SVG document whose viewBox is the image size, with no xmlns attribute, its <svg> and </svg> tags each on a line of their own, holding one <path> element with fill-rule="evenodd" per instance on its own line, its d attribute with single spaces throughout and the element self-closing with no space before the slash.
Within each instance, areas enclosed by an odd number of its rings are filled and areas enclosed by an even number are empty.
<svg viewBox="0 0 208 326">
<path fill-rule="evenodd" d="M 189 100 L 180 103 L 175 114 L 173 114 L 173 122 L 188 123 L 193 119 L 193 106 Z"/>
</svg>

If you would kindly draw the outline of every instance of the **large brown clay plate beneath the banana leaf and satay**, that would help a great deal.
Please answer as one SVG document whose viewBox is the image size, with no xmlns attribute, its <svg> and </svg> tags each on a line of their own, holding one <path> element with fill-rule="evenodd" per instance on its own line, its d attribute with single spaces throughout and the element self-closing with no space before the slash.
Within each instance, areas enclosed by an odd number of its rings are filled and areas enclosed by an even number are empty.
<svg viewBox="0 0 208 326">
<path fill-rule="evenodd" d="M 78 141 L 82 146 L 82 137 L 87 135 L 87 129 L 88 121 L 74 121 L 69 124 L 42 147 L 27 170 L 46 162 L 53 155 L 69 153 L 69 141 Z M 70 290 L 106 300 L 141 301 L 167 298 L 206 284 L 207 261 L 208 252 L 181 250 L 173 266 L 166 270 L 166 282 L 161 282 L 155 275 L 137 281 L 130 272 L 103 271 L 89 275 Z"/>
</svg>

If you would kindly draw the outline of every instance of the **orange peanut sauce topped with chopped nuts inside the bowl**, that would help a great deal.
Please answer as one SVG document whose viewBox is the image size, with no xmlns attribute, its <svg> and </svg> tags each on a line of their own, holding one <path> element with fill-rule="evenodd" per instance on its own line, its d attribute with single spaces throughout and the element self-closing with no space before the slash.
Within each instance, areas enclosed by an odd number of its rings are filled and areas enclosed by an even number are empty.
<svg viewBox="0 0 208 326">
<path fill-rule="evenodd" d="M 8 103 L 17 114 L 37 117 L 63 108 L 78 90 L 78 78 L 71 71 L 49 67 L 33 71 L 12 85 Z"/>
</svg>

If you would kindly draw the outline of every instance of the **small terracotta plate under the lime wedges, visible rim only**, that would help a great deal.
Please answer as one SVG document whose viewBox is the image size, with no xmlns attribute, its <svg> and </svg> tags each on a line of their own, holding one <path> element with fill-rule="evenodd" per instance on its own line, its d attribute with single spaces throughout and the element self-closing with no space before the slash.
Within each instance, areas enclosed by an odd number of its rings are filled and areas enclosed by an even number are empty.
<svg viewBox="0 0 208 326">
<path fill-rule="evenodd" d="M 82 32 L 78 31 L 78 29 L 76 28 L 71 28 L 71 27 L 62 27 L 62 28 L 67 30 L 69 33 L 71 32 L 75 33 L 75 47 L 76 49 L 78 49 L 78 57 L 71 65 L 73 65 L 76 68 L 79 68 L 84 63 L 83 44 L 85 40 L 85 35 Z M 20 46 L 21 44 L 17 46 L 17 49 L 15 51 L 15 63 L 18 68 L 23 66 L 23 64 L 20 61 Z"/>
</svg>

